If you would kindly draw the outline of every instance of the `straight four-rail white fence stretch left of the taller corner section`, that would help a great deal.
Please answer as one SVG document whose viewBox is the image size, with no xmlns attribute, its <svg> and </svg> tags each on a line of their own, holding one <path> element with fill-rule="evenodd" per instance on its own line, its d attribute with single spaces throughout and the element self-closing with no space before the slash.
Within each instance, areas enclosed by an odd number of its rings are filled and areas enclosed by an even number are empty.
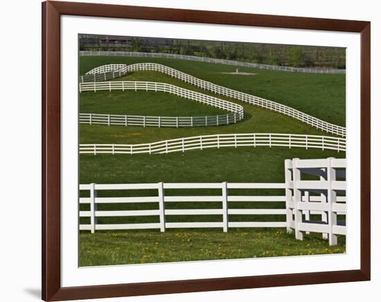
<svg viewBox="0 0 381 302">
<path fill-rule="evenodd" d="M 285 201 L 285 196 L 237 196 L 229 195 L 229 189 L 284 189 L 284 183 L 148 183 L 148 184 L 114 184 L 114 185 L 80 185 L 80 190 L 90 191 L 90 197 L 80 198 L 80 204 L 89 204 L 89 211 L 80 211 L 80 217 L 89 217 L 89 224 L 80 224 L 80 230 L 103 229 L 160 229 L 165 232 L 172 228 L 200 228 L 218 227 L 224 232 L 228 232 L 231 227 L 285 227 L 283 222 L 233 222 L 229 221 L 229 215 L 283 215 L 286 211 L 284 205 L 278 209 L 231 209 L 231 202 L 279 202 Z M 97 192 L 101 190 L 155 190 L 155 196 L 136 196 L 136 197 L 98 197 Z M 220 194 L 214 196 L 172 196 L 168 191 L 172 189 L 220 189 Z M 139 205 L 143 202 L 157 202 L 157 209 L 127 210 L 127 211 L 98 211 L 98 204 L 110 203 L 134 203 Z M 200 202 L 205 205 L 208 202 L 221 202 L 220 209 L 166 209 L 166 205 L 171 202 Z M 181 215 L 219 215 L 222 216 L 221 222 L 166 222 L 166 216 Z M 159 223 L 123 223 L 123 224 L 104 224 L 98 223 L 99 217 L 131 217 L 131 216 L 157 216 Z"/>
</svg>

